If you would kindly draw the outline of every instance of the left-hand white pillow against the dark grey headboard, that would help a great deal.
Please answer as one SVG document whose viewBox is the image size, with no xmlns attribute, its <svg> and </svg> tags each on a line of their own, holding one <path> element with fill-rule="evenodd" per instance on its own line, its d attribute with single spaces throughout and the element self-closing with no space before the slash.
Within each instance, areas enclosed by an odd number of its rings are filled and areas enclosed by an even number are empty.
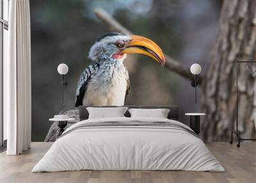
<svg viewBox="0 0 256 183">
<path fill-rule="evenodd" d="M 124 117 L 128 107 L 86 107 L 89 119 Z"/>
</svg>

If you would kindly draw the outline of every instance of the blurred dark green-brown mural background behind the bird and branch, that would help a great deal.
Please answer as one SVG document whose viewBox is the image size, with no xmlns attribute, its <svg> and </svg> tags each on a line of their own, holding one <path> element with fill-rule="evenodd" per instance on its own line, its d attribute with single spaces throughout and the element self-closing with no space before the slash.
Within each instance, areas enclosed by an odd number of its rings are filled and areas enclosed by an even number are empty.
<svg viewBox="0 0 256 183">
<path fill-rule="evenodd" d="M 32 141 L 44 141 L 51 126 L 48 119 L 75 104 L 77 79 L 91 63 L 90 47 L 109 31 L 94 15 L 95 8 L 106 10 L 136 35 L 154 40 L 186 67 L 200 63 L 204 74 L 218 32 L 221 1 L 37 0 L 30 6 Z M 127 63 L 134 60 L 139 61 L 129 67 Z M 57 72 L 60 63 L 69 67 L 64 105 Z M 184 113 L 200 111 L 190 81 L 145 56 L 128 56 L 125 65 L 131 79 L 125 104 L 178 105 L 180 121 L 185 123 L 189 119 Z"/>
</svg>

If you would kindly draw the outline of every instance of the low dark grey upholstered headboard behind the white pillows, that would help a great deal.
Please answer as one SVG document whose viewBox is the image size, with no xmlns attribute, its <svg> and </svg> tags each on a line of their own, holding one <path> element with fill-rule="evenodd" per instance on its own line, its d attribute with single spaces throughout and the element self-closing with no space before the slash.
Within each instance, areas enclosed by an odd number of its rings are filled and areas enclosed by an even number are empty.
<svg viewBox="0 0 256 183">
<path fill-rule="evenodd" d="M 88 113 L 86 107 L 89 107 L 89 106 L 79 106 L 80 121 L 88 119 L 89 113 Z M 102 107 L 118 107 L 118 106 L 102 106 Z M 178 120 L 178 118 L 179 118 L 179 107 L 178 106 L 125 106 L 125 107 L 141 108 L 141 109 L 157 109 L 157 108 L 170 109 L 170 112 L 168 114 L 168 119 Z M 129 113 L 129 111 L 127 111 L 125 113 L 125 116 L 126 117 L 131 117 L 131 114 Z"/>
</svg>

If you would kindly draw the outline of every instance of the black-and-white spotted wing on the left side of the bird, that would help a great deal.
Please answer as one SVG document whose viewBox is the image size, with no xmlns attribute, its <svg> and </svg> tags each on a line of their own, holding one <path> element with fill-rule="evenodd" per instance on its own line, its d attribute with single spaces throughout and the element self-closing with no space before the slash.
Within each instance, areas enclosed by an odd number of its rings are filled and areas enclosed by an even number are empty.
<svg viewBox="0 0 256 183">
<path fill-rule="evenodd" d="M 95 76 L 98 70 L 99 64 L 93 63 L 92 65 L 86 67 L 86 69 L 84 69 L 84 71 L 81 73 L 76 89 L 76 107 L 83 106 L 83 97 L 87 89 L 87 84 L 90 79 Z"/>
</svg>

